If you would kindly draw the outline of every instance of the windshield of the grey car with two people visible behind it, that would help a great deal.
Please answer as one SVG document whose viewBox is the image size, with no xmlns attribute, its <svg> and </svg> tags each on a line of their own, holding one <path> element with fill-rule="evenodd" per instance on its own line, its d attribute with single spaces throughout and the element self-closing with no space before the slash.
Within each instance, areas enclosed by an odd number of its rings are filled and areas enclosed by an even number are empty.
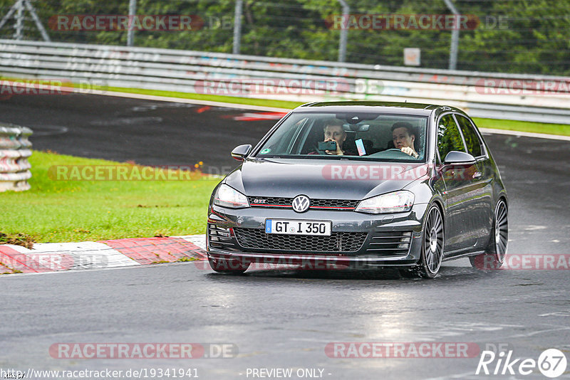
<svg viewBox="0 0 570 380">
<path fill-rule="evenodd" d="M 420 162 L 426 130 L 425 116 L 293 112 L 255 156 Z"/>
</svg>

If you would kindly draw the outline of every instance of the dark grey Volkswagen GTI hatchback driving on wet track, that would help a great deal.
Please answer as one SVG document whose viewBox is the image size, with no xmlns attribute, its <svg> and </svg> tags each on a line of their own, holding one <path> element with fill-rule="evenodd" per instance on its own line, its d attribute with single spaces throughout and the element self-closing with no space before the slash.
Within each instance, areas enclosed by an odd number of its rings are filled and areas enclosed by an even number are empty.
<svg viewBox="0 0 570 380">
<path fill-rule="evenodd" d="M 316 102 L 289 112 L 214 189 L 207 253 L 252 263 L 395 267 L 435 278 L 442 260 L 502 265 L 507 191 L 487 143 L 454 107 Z"/>
</svg>

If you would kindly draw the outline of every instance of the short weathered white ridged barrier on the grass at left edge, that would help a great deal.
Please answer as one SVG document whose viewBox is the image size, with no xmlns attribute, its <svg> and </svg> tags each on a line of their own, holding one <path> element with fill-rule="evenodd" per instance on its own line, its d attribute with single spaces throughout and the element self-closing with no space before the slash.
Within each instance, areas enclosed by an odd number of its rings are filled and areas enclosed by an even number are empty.
<svg viewBox="0 0 570 380">
<path fill-rule="evenodd" d="M 32 131 L 27 127 L 0 124 L 0 192 L 7 190 L 24 191 L 30 189 Z"/>
</svg>

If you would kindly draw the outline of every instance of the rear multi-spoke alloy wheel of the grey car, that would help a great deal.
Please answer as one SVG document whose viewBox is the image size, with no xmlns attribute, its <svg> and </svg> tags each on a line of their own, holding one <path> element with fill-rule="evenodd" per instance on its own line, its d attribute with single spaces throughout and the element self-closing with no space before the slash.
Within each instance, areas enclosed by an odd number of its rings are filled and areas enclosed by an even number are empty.
<svg viewBox="0 0 570 380">
<path fill-rule="evenodd" d="M 507 204 L 501 199 L 494 210 L 493 227 L 489 246 L 485 253 L 470 256 L 471 265 L 477 269 L 499 269 L 504 263 L 509 244 L 509 212 Z"/>
</svg>

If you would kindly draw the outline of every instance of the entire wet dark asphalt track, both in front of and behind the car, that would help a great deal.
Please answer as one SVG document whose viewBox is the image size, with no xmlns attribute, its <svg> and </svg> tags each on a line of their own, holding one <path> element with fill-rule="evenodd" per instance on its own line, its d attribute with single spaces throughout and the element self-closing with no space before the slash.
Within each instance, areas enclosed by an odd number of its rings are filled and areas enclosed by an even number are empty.
<svg viewBox="0 0 570 380">
<path fill-rule="evenodd" d="M 32 127 L 35 149 L 140 164 L 201 160 L 212 170 L 235 166 L 229 151 L 257 142 L 274 124 L 233 120 L 244 112 L 88 95 L 0 101 L 0 121 Z M 509 191 L 509 253 L 569 253 L 570 142 L 485 139 Z M 487 377 L 475 375 L 479 356 L 334 359 L 324 352 L 329 342 L 504 343 L 516 357 L 538 359 L 557 348 L 570 359 L 568 270 L 487 272 L 464 259 L 445 263 L 431 281 L 346 270 L 248 273 L 176 263 L 2 276 L 0 367 L 191 367 L 201 379 L 252 379 L 247 369 L 261 367 L 318 368 L 325 379 Z M 232 343 L 239 355 L 68 361 L 49 356 L 56 342 Z"/>
</svg>

